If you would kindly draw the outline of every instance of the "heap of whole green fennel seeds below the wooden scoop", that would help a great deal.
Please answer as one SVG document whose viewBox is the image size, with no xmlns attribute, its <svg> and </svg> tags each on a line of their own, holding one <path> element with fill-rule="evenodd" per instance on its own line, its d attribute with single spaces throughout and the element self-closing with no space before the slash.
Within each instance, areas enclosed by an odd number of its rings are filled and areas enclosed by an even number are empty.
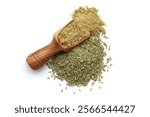
<svg viewBox="0 0 150 117">
<path fill-rule="evenodd" d="M 68 53 L 59 53 L 47 63 L 56 79 L 65 80 L 68 86 L 87 86 L 101 78 L 105 48 L 99 36 L 91 36 Z"/>
</svg>

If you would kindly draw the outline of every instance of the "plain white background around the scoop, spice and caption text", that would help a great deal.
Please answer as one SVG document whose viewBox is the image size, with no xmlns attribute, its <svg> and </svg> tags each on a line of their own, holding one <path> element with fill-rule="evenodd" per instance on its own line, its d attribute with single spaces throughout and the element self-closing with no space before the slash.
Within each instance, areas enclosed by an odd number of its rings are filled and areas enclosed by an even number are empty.
<svg viewBox="0 0 150 117">
<path fill-rule="evenodd" d="M 101 90 L 60 92 L 48 80 L 46 66 L 33 71 L 31 52 L 47 45 L 53 33 L 71 20 L 79 6 L 94 6 L 106 22 L 113 66 Z M 1 117 L 143 117 L 150 116 L 150 17 L 148 0 L 0 0 Z M 77 92 L 76 95 L 73 92 Z M 135 104 L 133 114 L 15 114 L 22 106 Z"/>
</svg>

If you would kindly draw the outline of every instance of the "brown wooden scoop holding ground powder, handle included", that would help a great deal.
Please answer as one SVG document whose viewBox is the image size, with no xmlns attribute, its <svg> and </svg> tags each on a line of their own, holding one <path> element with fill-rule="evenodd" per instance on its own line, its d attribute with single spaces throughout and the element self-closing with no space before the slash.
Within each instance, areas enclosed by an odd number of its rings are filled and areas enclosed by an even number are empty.
<svg viewBox="0 0 150 117">
<path fill-rule="evenodd" d="M 71 22 L 69 22 L 67 25 L 69 25 Z M 80 37 L 79 39 L 80 41 L 74 43 L 72 46 L 66 46 L 66 45 L 62 45 L 58 39 L 58 35 L 61 32 L 61 30 L 63 30 L 63 28 L 58 30 L 54 34 L 53 40 L 50 44 L 33 52 L 27 57 L 26 61 L 32 69 L 35 70 L 35 69 L 42 67 L 52 56 L 56 55 L 57 53 L 61 51 L 64 51 L 64 52 L 69 51 L 74 46 L 78 45 L 79 43 L 81 43 L 82 41 L 84 41 L 86 38 L 90 36 L 90 32 L 88 32 L 87 34 Z"/>
</svg>

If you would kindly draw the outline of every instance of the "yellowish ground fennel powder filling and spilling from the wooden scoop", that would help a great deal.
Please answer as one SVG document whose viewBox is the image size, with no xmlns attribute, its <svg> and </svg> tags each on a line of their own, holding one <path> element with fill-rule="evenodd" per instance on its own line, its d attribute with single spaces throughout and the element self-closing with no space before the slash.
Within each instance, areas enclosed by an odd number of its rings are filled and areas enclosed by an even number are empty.
<svg viewBox="0 0 150 117">
<path fill-rule="evenodd" d="M 72 46 L 90 32 L 91 35 L 105 34 L 105 23 L 94 7 L 79 7 L 72 15 L 72 21 L 58 35 L 62 45 Z"/>
</svg>

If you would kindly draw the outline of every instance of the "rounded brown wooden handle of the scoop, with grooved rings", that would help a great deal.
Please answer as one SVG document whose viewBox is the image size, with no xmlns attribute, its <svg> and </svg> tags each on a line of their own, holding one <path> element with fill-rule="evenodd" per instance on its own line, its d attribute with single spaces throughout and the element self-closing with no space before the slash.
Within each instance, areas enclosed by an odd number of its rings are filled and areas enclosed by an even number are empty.
<svg viewBox="0 0 150 117">
<path fill-rule="evenodd" d="M 53 38 L 50 44 L 30 54 L 26 61 L 35 70 L 42 67 L 52 56 L 62 50 L 56 39 Z"/>
</svg>

